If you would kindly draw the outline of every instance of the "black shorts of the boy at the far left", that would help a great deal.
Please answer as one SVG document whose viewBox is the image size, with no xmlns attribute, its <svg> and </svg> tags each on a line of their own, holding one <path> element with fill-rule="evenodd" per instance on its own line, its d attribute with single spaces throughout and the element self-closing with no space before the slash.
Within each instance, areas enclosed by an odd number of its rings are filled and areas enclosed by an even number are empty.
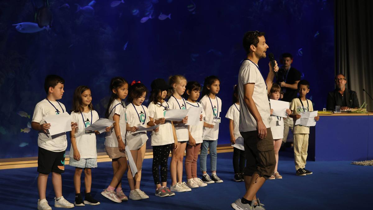
<svg viewBox="0 0 373 210">
<path fill-rule="evenodd" d="M 53 152 L 39 147 L 38 172 L 43 174 L 65 172 L 65 151 Z"/>
</svg>

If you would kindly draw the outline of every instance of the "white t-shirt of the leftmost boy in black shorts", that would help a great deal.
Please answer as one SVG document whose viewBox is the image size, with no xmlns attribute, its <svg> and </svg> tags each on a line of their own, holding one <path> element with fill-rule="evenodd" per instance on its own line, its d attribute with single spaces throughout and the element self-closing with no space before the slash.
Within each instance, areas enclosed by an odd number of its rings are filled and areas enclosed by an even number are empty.
<svg viewBox="0 0 373 210">
<path fill-rule="evenodd" d="M 47 101 L 47 99 L 43 99 L 42 101 L 36 104 L 34 109 L 34 115 L 32 116 L 32 122 L 44 124 L 46 123 L 44 117 L 48 115 L 57 114 L 57 110 L 59 113 L 66 112 L 65 105 L 63 105 L 62 103 L 57 101 L 50 102 L 53 104 L 55 108 Z M 38 146 L 53 152 L 65 151 L 68 146 L 66 133 L 59 133 L 50 136 L 49 132 L 43 133 L 39 131 Z"/>
</svg>

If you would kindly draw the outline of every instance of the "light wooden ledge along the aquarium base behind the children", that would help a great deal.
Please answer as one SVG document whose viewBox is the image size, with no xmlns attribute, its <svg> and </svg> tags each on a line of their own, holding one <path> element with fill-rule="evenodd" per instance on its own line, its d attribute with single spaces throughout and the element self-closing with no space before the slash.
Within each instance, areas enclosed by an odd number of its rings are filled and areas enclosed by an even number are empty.
<svg viewBox="0 0 373 210">
<path fill-rule="evenodd" d="M 222 152 L 233 152 L 233 146 L 230 144 L 218 145 L 217 146 L 217 153 Z M 185 153 L 184 153 L 185 155 Z M 171 157 L 171 153 L 170 156 Z M 152 149 L 147 149 L 145 152 L 145 159 L 153 158 L 153 151 Z M 65 165 L 69 164 L 70 158 L 65 158 Z M 106 152 L 98 152 L 97 153 L 97 162 L 109 162 L 112 159 L 106 155 Z M 8 158 L 8 159 L 0 159 L 0 169 L 19 169 L 19 168 L 29 168 L 29 167 L 37 167 L 38 166 L 38 157 L 28 157 L 28 158 Z"/>
</svg>

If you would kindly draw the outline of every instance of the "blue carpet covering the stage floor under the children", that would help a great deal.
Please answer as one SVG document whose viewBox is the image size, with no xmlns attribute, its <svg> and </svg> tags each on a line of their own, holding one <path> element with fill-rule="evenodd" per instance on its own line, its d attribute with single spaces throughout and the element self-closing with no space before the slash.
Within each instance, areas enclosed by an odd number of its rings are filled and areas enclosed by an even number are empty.
<svg viewBox="0 0 373 210">
<path fill-rule="evenodd" d="M 282 152 L 280 155 L 279 172 L 283 179 L 267 180 L 257 194 L 266 205 L 266 209 L 372 209 L 372 166 L 351 165 L 350 161 L 308 162 L 307 169 L 313 171 L 313 175 L 298 177 L 294 175 L 291 151 Z M 151 159 L 144 161 L 141 182 L 141 189 L 149 195 L 149 199 L 113 203 L 104 198 L 100 192 L 109 184 L 112 177 L 111 163 L 105 162 L 98 163 L 98 168 L 93 170 L 92 194 L 101 204 L 75 208 L 231 209 L 231 203 L 245 193 L 244 183 L 232 180 L 231 152 L 218 154 L 217 174 L 224 183 L 210 184 L 203 188 L 192 189 L 191 192 L 176 193 L 176 196 L 165 198 L 154 195 L 151 161 Z M 207 163 L 209 162 L 208 160 Z M 73 173 L 74 168 L 66 166 L 66 172 L 62 176 L 63 196 L 72 203 L 75 198 Z M 0 170 L 2 209 L 36 209 L 37 175 L 36 168 Z M 198 172 L 198 175 L 200 176 L 201 173 Z M 84 180 L 83 175 L 82 180 Z M 126 195 L 129 194 L 126 177 L 123 178 L 123 191 Z M 84 192 L 84 183 L 82 183 L 82 192 Z M 50 206 L 56 209 L 53 207 L 53 197 L 53 186 L 51 179 L 48 179 L 47 200 Z"/>
</svg>

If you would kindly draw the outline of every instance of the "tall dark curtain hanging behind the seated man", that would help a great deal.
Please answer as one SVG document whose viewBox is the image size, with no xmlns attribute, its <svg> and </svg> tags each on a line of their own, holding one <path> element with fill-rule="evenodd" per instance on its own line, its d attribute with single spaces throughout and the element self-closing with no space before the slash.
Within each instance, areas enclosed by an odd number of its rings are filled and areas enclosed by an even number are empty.
<svg viewBox="0 0 373 210">
<path fill-rule="evenodd" d="M 335 1 L 335 72 L 346 76 L 347 87 L 357 92 L 360 105 L 373 101 L 373 1 Z"/>
</svg>

